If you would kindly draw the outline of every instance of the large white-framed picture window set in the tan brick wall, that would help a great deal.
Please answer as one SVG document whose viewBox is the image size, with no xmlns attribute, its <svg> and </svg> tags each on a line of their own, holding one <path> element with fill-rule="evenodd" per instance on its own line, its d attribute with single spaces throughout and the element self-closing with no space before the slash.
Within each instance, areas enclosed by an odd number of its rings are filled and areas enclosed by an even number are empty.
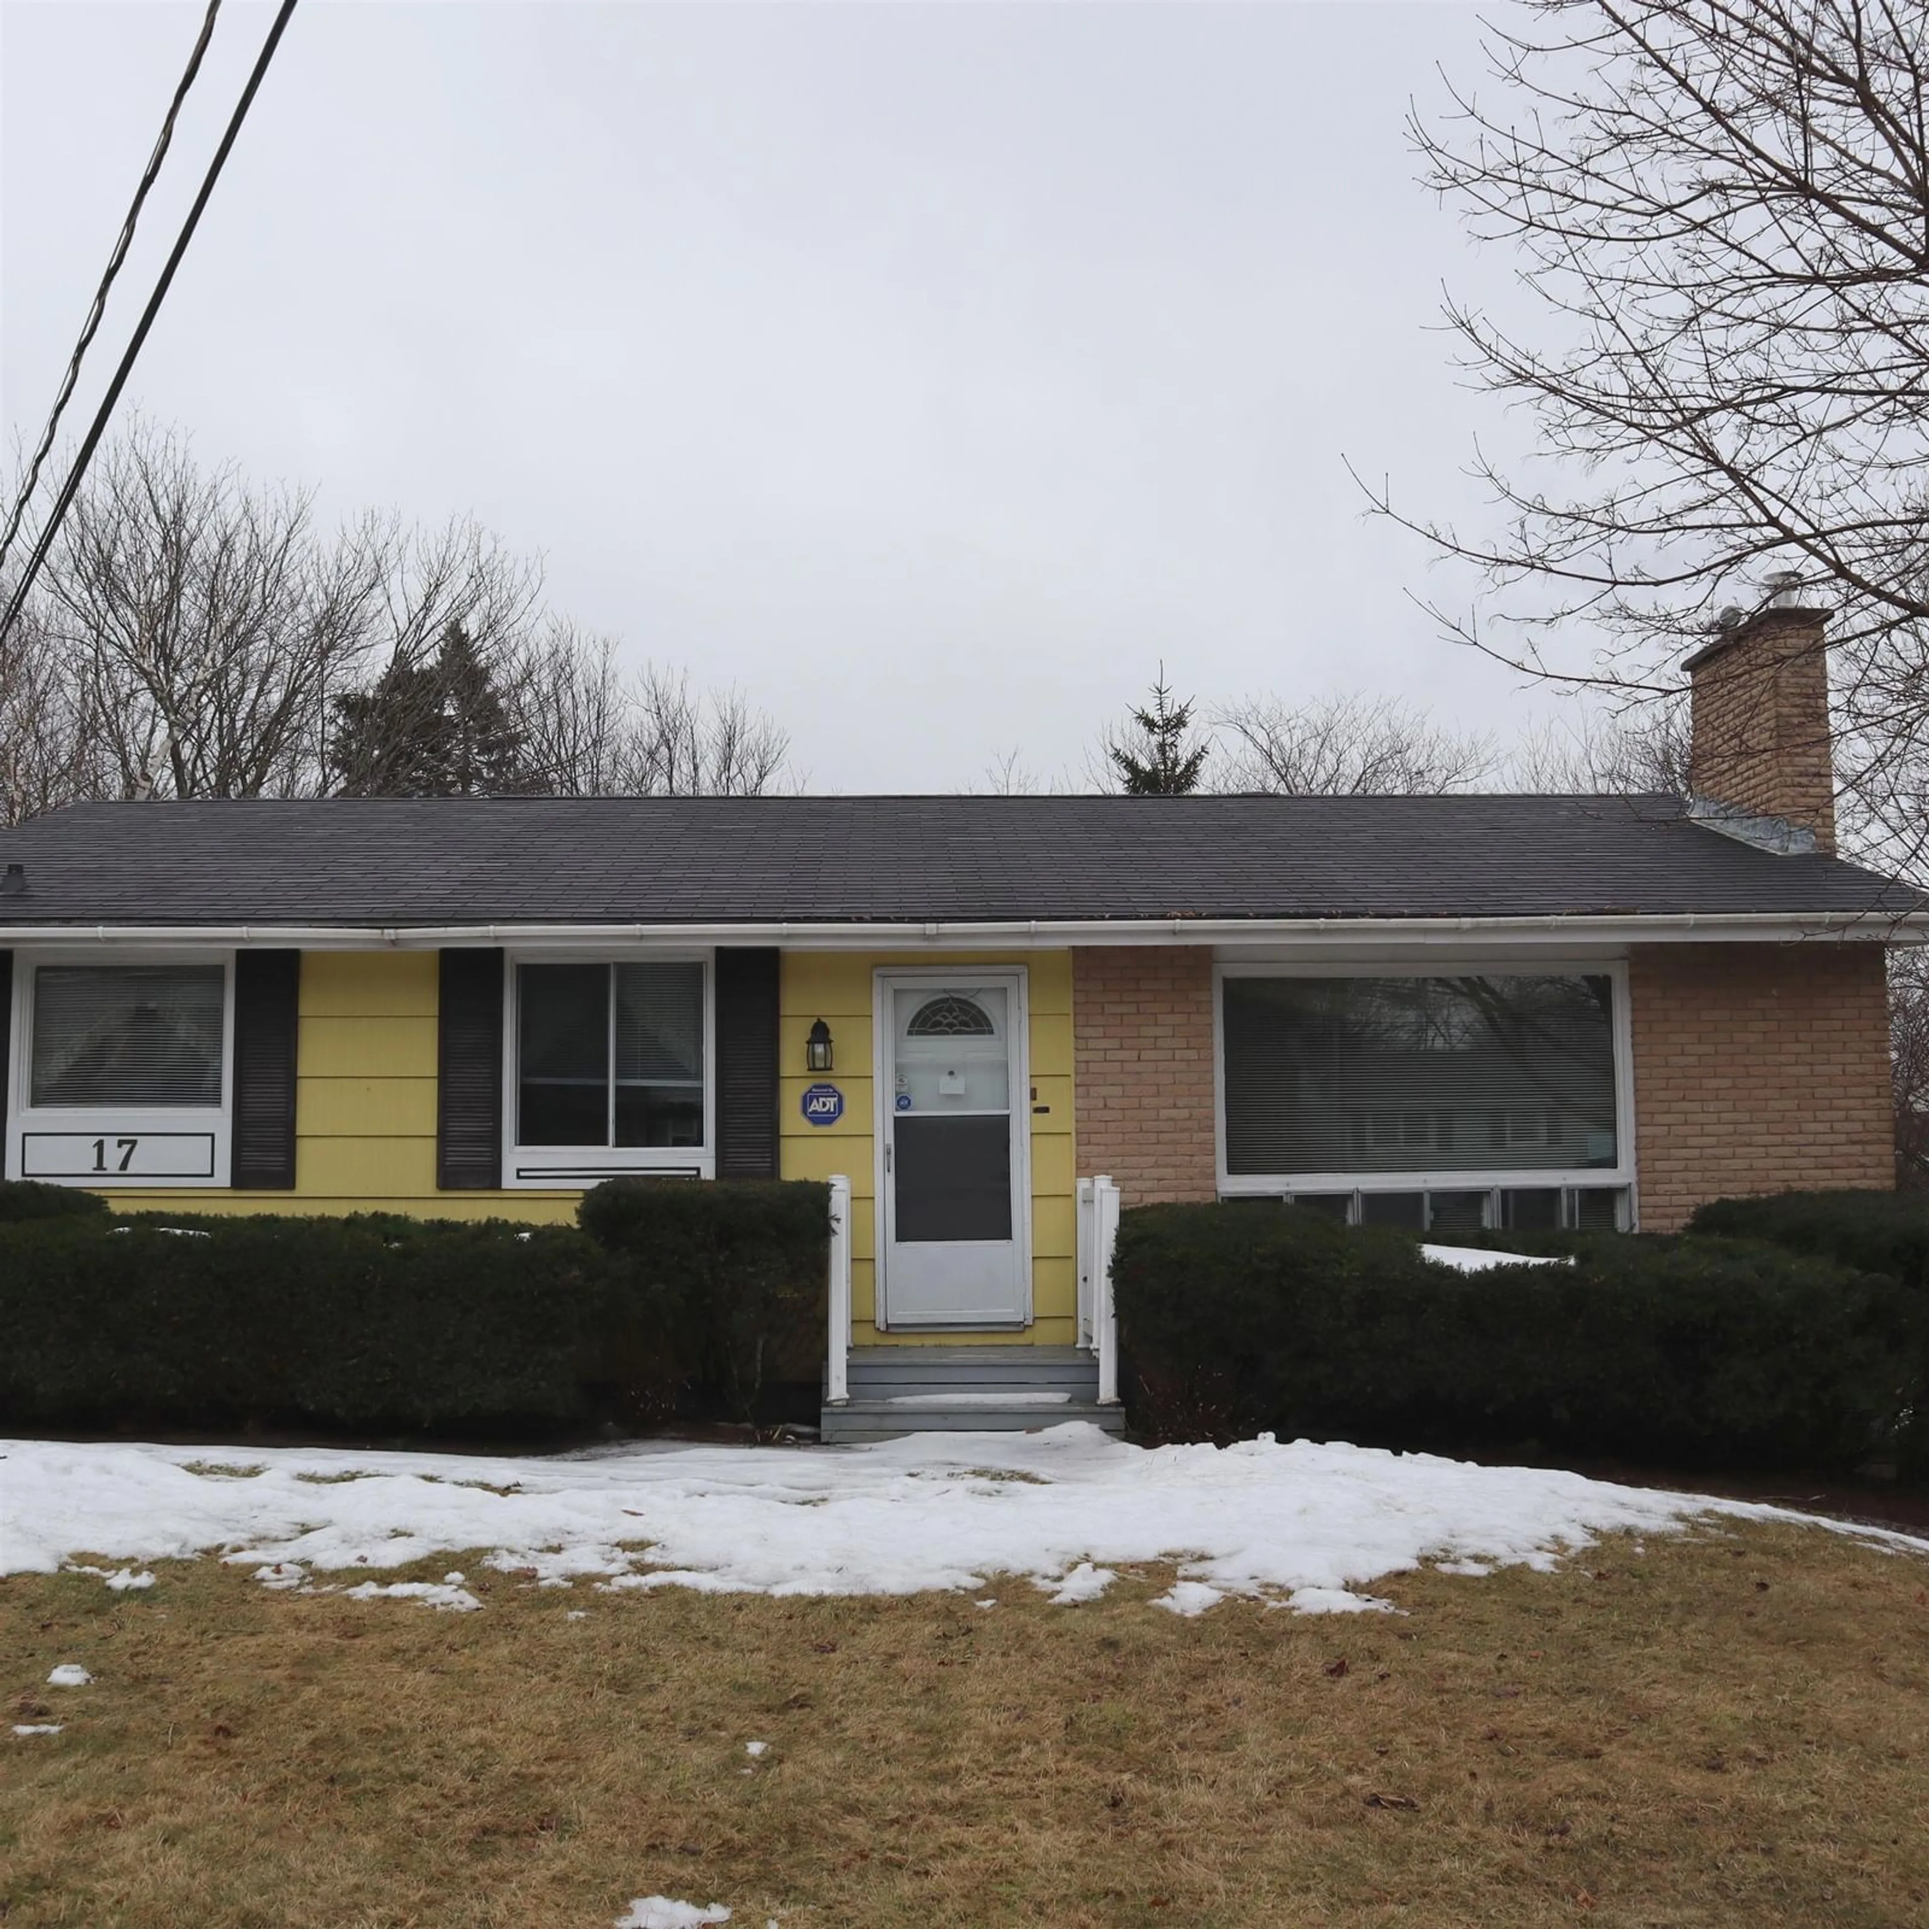
<svg viewBox="0 0 1929 1929">
<path fill-rule="evenodd" d="M 1213 978 L 1221 1194 L 1441 1233 L 1632 1223 L 1618 959 Z"/>
</svg>

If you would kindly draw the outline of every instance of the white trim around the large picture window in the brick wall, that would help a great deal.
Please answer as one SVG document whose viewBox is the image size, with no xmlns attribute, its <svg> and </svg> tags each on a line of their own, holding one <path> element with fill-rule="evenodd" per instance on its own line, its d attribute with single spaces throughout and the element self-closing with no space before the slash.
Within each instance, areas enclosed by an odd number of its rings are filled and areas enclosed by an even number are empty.
<svg viewBox="0 0 1929 1929">
<path fill-rule="evenodd" d="M 1476 1167 L 1470 1171 L 1412 1171 L 1412 1173 L 1238 1173 L 1227 1171 L 1225 1157 L 1225 980 L 1227 978 L 1607 978 L 1611 986 L 1611 1015 L 1615 1026 L 1615 1165 L 1559 1167 Z M 1227 961 L 1213 964 L 1211 974 L 1211 1049 L 1213 1049 L 1213 1159 L 1221 1198 L 1269 1198 L 1281 1192 L 1485 1192 L 1528 1186 L 1586 1186 L 1628 1190 L 1628 1223 L 1640 1223 L 1634 1150 L 1634 1049 L 1628 1028 L 1628 963 L 1626 959 L 1495 959 L 1487 957 L 1429 957 L 1414 963 L 1346 963 L 1316 961 Z"/>
</svg>

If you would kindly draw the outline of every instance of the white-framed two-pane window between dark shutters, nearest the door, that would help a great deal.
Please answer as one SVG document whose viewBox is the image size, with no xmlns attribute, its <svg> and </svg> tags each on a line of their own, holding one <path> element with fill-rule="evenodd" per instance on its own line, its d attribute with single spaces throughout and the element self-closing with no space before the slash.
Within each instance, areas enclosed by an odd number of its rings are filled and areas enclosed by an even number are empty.
<svg viewBox="0 0 1929 1929">
<path fill-rule="evenodd" d="M 503 1181 L 716 1171 L 708 955 L 511 957 Z"/>
</svg>

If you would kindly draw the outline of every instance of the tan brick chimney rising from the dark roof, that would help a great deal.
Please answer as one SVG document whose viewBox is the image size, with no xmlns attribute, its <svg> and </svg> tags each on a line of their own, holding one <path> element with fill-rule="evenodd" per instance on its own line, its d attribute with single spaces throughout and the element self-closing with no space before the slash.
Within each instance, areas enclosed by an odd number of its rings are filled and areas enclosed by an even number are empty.
<svg viewBox="0 0 1929 1929">
<path fill-rule="evenodd" d="M 1713 806 L 1715 828 L 1780 818 L 1811 831 L 1813 849 L 1834 851 L 1827 629 L 1829 611 L 1802 602 L 1796 577 L 1780 577 L 1759 610 L 1726 617 L 1688 658 L 1688 789 L 1694 804 Z"/>
</svg>

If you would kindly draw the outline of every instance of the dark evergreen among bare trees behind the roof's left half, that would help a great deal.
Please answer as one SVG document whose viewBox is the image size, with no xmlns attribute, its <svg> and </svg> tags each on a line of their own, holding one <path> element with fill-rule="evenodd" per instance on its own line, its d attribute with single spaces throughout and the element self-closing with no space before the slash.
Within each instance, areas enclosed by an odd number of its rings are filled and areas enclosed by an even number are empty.
<svg viewBox="0 0 1929 1929">
<path fill-rule="evenodd" d="M 434 662 L 390 664 L 334 700 L 330 775 L 349 797 L 484 797 L 527 789 L 523 739 L 461 623 Z"/>
</svg>

